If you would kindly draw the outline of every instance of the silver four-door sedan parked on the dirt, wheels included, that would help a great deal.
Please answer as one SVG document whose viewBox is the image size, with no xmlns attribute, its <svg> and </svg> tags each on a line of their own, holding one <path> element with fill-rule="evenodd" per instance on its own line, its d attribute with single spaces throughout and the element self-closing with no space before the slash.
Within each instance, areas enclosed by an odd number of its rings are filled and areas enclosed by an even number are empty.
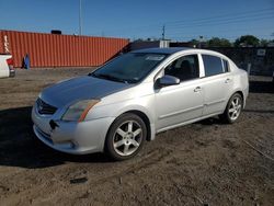
<svg viewBox="0 0 274 206">
<path fill-rule="evenodd" d="M 151 48 L 46 88 L 32 111 L 35 135 L 68 153 L 134 157 L 156 134 L 219 115 L 235 123 L 248 75 L 212 50 Z"/>
</svg>

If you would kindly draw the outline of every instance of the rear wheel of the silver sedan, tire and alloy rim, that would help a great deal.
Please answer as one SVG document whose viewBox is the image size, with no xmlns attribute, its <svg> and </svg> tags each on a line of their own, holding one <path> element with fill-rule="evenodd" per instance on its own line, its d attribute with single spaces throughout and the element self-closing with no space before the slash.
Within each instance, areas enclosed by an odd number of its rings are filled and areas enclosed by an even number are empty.
<svg viewBox="0 0 274 206">
<path fill-rule="evenodd" d="M 227 124 L 235 123 L 242 111 L 243 100 L 239 93 L 235 93 L 228 101 L 225 112 L 219 115 L 219 118 Z"/>
</svg>

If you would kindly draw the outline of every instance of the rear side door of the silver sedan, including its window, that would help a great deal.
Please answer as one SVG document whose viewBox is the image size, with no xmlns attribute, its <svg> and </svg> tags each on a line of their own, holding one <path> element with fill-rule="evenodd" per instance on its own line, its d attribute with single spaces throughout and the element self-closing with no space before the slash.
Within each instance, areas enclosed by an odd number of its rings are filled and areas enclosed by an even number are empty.
<svg viewBox="0 0 274 206">
<path fill-rule="evenodd" d="M 214 55 L 202 55 L 205 77 L 203 78 L 203 116 L 221 113 L 227 104 L 233 81 L 228 61 Z"/>
</svg>

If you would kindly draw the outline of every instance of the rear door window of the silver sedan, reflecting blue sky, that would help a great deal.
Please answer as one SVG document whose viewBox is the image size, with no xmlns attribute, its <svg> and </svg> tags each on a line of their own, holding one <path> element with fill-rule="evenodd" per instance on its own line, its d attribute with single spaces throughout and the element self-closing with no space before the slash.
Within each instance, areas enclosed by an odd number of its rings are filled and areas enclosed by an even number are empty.
<svg viewBox="0 0 274 206">
<path fill-rule="evenodd" d="M 212 55 L 202 55 L 202 57 L 206 77 L 224 73 L 222 61 L 219 57 L 215 57 Z"/>
</svg>

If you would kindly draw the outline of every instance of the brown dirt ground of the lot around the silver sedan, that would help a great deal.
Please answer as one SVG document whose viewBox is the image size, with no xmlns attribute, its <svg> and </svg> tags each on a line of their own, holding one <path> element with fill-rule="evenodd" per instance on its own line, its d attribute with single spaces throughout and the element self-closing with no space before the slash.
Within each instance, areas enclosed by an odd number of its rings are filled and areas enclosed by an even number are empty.
<svg viewBox="0 0 274 206">
<path fill-rule="evenodd" d="M 39 91 L 90 69 L 0 79 L 0 205 L 274 205 L 274 89 L 251 77 L 238 123 L 210 118 L 157 135 L 134 159 L 69 156 L 35 141 Z"/>
</svg>

